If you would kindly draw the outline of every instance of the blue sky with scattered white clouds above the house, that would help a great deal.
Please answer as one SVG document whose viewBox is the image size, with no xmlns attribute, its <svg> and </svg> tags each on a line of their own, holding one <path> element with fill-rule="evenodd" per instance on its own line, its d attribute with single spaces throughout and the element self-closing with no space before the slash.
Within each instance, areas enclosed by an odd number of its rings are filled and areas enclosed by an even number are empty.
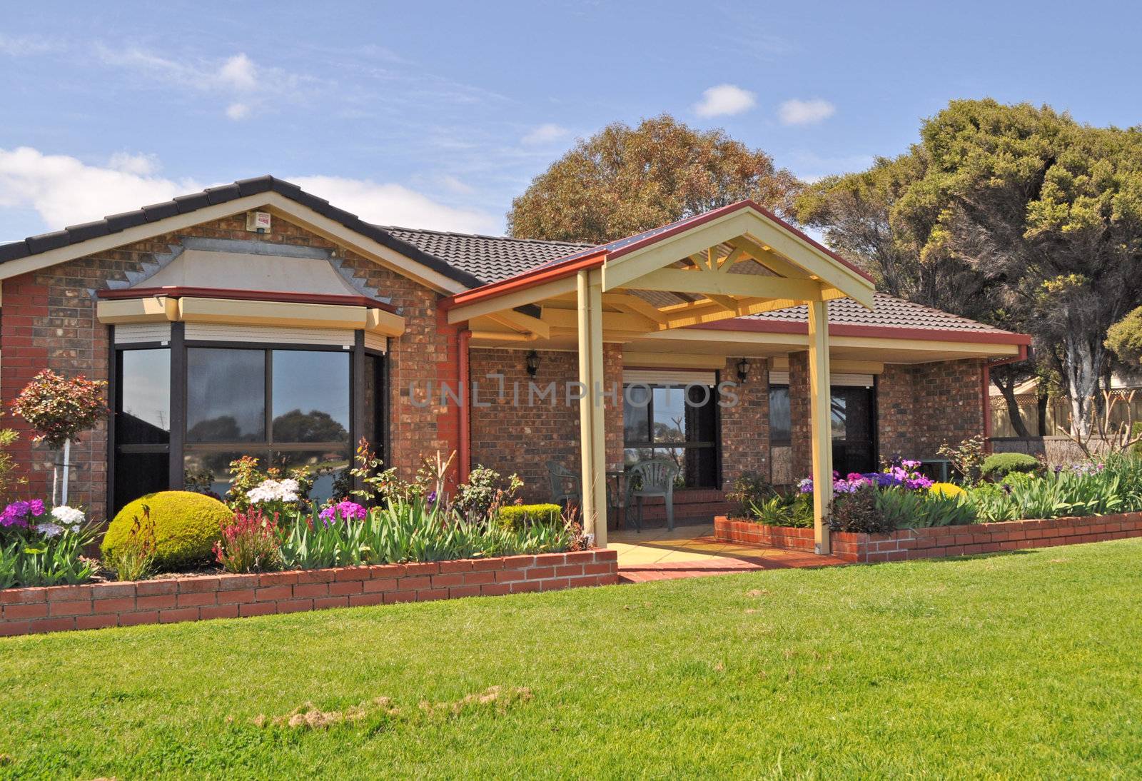
<svg viewBox="0 0 1142 781">
<path fill-rule="evenodd" d="M 1142 11 L 1087 2 L 3 2 L 0 241 L 271 172 L 499 233 L 608 122 L 669 112 L 803 177 L 952 98 L 1139 124 Z"/>
</svg>

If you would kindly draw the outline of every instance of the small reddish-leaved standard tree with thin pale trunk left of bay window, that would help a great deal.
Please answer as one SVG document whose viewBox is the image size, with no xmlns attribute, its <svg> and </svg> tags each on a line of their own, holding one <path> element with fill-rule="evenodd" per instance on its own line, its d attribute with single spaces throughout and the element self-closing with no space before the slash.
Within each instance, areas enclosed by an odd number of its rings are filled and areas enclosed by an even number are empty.
<svg viewBox="0 0 1142 781">
<path fill-rule="evenodd" d="M 71 465 L 71 443 L 88 430 L 107 411 L 103 380 L 89 380 L 83 375 L 71 379 L 45 369 L 32 378 L 11 409 L 35 429 L 35 442 L 45 442 L 53 450 L 64 449 L 63 499 L 67 504 L 67 470 Z M 56 501 L 58 469 L 53 465 L 51 501 Z"/>
</svg>

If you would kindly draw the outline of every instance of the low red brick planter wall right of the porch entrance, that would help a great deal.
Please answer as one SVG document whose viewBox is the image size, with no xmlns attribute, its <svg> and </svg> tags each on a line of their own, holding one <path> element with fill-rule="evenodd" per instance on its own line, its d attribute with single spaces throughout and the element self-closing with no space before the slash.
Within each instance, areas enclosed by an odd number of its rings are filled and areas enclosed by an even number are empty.
<svg viewBox="0 0 1142 781">
<path fill-rule="evenodd" d="M 726 542 L 770 545 L 790 550 L 813 550 L 813 530 L 764 526 L 719 516 L 714 536 Z M 1142 537 L 1142 513 L 1093 515 L 1047 521 L 1006 521 L 970 526 L 904 529 L 891 534 L 833 532 L 833 555 L 846 562 L 898 562 L 906 558 L 940 558 L 1020 548 L 1101 542 Z"/>
</svg>

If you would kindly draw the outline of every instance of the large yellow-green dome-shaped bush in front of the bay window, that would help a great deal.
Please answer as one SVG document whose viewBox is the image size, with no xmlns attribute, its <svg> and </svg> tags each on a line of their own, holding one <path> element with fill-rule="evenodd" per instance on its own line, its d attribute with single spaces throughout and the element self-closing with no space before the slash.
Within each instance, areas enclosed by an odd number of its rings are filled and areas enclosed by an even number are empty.
<svg viewBox="0 0 1142 781">
<path fill-rule="evenodd" d="M 148 493 L 119 510 L 107 526 L 100 546 L 104 557 L 128 541 L 136 517 L 145 523 L 144 506 L 150 508 L 154 524 L 155 566 L 161 570 L 208 564 L 214 558 L 214 544 L 220 537 L 222 524 L 233 515 L 226 505 L 202 493 Z"/>
</svg>

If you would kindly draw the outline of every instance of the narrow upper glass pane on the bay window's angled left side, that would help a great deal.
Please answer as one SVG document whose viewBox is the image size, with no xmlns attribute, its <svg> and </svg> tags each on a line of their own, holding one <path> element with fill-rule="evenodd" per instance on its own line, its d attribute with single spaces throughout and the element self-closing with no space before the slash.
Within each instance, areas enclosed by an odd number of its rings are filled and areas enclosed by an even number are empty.
<svg viewBox="0 0 1142 781">
<path fill-rule="evenodd" d="M 120 351 L 118 386 L 115 442 L 170 442 L 170 351 Z"/>
</svg>

